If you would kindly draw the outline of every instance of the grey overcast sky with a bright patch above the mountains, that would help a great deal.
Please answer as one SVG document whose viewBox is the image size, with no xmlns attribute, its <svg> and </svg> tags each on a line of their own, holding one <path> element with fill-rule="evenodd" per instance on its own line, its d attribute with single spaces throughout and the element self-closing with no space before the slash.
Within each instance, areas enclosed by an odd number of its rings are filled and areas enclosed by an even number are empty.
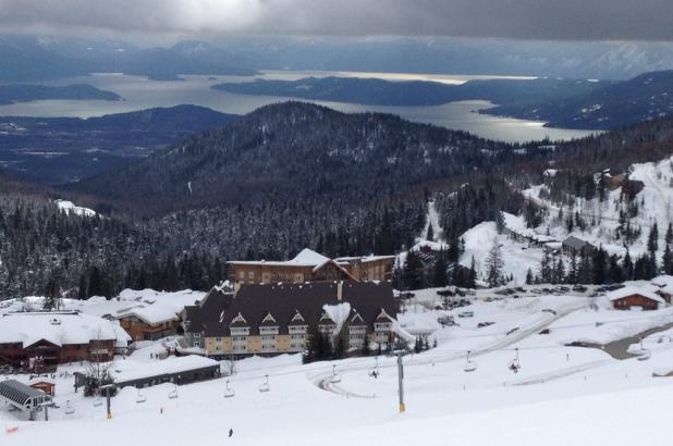
<svg viewBox="0 0 673 446">
<path fill-rule="evenodd" d="M 673 40 L 673 0 L 0 0 L 2 33 Z"/>
</svg>

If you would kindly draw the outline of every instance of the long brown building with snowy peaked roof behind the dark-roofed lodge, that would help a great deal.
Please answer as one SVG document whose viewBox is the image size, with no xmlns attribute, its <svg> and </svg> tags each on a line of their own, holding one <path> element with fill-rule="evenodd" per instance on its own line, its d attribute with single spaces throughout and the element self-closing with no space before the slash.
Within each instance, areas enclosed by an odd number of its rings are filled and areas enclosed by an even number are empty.
<svg viewBox="0 0 673 446">
<path fill-rule="evenodd" d="M 231 280 L 242 284 L 276 284 L 334 281 L 389 281 L 394 256 L 342 257 L 330 259 L 304 249 L 286 261 L 231 261 Z"/>
</svg>

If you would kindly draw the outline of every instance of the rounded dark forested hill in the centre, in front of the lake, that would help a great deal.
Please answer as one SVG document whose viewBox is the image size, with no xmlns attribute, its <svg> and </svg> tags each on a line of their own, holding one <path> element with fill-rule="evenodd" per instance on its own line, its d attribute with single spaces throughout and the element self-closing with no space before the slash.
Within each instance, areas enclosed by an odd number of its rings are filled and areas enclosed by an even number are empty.
<svg viewBox="0 0 673 446">
<path fill-rule="evenodd" d="M 518 158 L 511 145 L 464 132 L 285 102 L 69 189 L 156 211 L 306 199 L 347 206 Z"/>
</svg>

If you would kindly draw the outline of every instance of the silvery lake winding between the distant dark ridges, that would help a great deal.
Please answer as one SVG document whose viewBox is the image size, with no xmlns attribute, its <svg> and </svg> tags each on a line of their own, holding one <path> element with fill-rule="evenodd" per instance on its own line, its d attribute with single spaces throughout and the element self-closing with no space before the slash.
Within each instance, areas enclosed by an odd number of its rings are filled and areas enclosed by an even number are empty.
<svg viewBox="0 0 673 446">
<path fill-rule="evenodd" d="M 318 71 L 266 71 L 258 76 L 183 76 L 184 80 L 149 80 L 142 76 L 122 74 L 94 74 L 50 83 L 50 85 L 89 84 L 100 89 L 114 91 L 122 101 L 98 100 L 40 100 L 0 106 L 0 115 L 15 116 L 99 116 L 122 113 L 154 107 L 172 107 L 182 103 L 208 107 L 225 113 L 245 114 L 259 107 L 290 100 L 273 96 L 248 96 L 210 89 L 222 82 L 252 82 L 255 78 L 295 80 L 302 77 L 348 76 L 378 77 L 388 80 L 432 80 L 445 84 L 461 84 L 469 79 L 503 78 L 505 76 L 462 76 L 424 75 L 405 73 L 359 73 L 359 72 L 318 72 Z M 513 77 L 529 79 L 531 77 Z M 524 143 L 549 137 L 552 140 L 572 139 L 590 135 L 590 131 L 543 127 L 542 122 L 515 120 L 479 114 L 475 111 L 492 107 L 487 101 L 462 101 L 436 107 L 379 107 L 345 102 L 314 101 L 343 112 L 384 112 L 394 113 L 409 121 L 441 125 L 462 129 L 475 135 Z"/>
</svg>

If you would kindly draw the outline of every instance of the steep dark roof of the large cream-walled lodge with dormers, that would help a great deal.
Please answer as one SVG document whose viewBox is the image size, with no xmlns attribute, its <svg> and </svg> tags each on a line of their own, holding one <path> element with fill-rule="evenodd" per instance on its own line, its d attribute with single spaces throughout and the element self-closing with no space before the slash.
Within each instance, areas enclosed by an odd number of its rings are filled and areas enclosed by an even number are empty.
<svg viewBox="0 0 673 446">
<path fill-rule="evenodd" d="M 389 282 L 343 282 L 341 300 L 338 299 L 338 288 L 337 283 L 242 285 L 224 309 L 222 320 L 219 321 L 218 314 L 217 323 L 205 324 L 205 335 L 229 336 L 230 324 L 238 313 L 247 321 L 250 335 L 259 334 L 259 326 L 269 313 L 280 326 L 280 334 L 286 334 L 289 325 L 317 324 L 325 313 L 325 305 L 348 302 L 368 325 L 374 324 L 381 309 L 392 317 L 396 314 Z M 297 311 L 306 322 L 292 322 Z"/>
</svg>

